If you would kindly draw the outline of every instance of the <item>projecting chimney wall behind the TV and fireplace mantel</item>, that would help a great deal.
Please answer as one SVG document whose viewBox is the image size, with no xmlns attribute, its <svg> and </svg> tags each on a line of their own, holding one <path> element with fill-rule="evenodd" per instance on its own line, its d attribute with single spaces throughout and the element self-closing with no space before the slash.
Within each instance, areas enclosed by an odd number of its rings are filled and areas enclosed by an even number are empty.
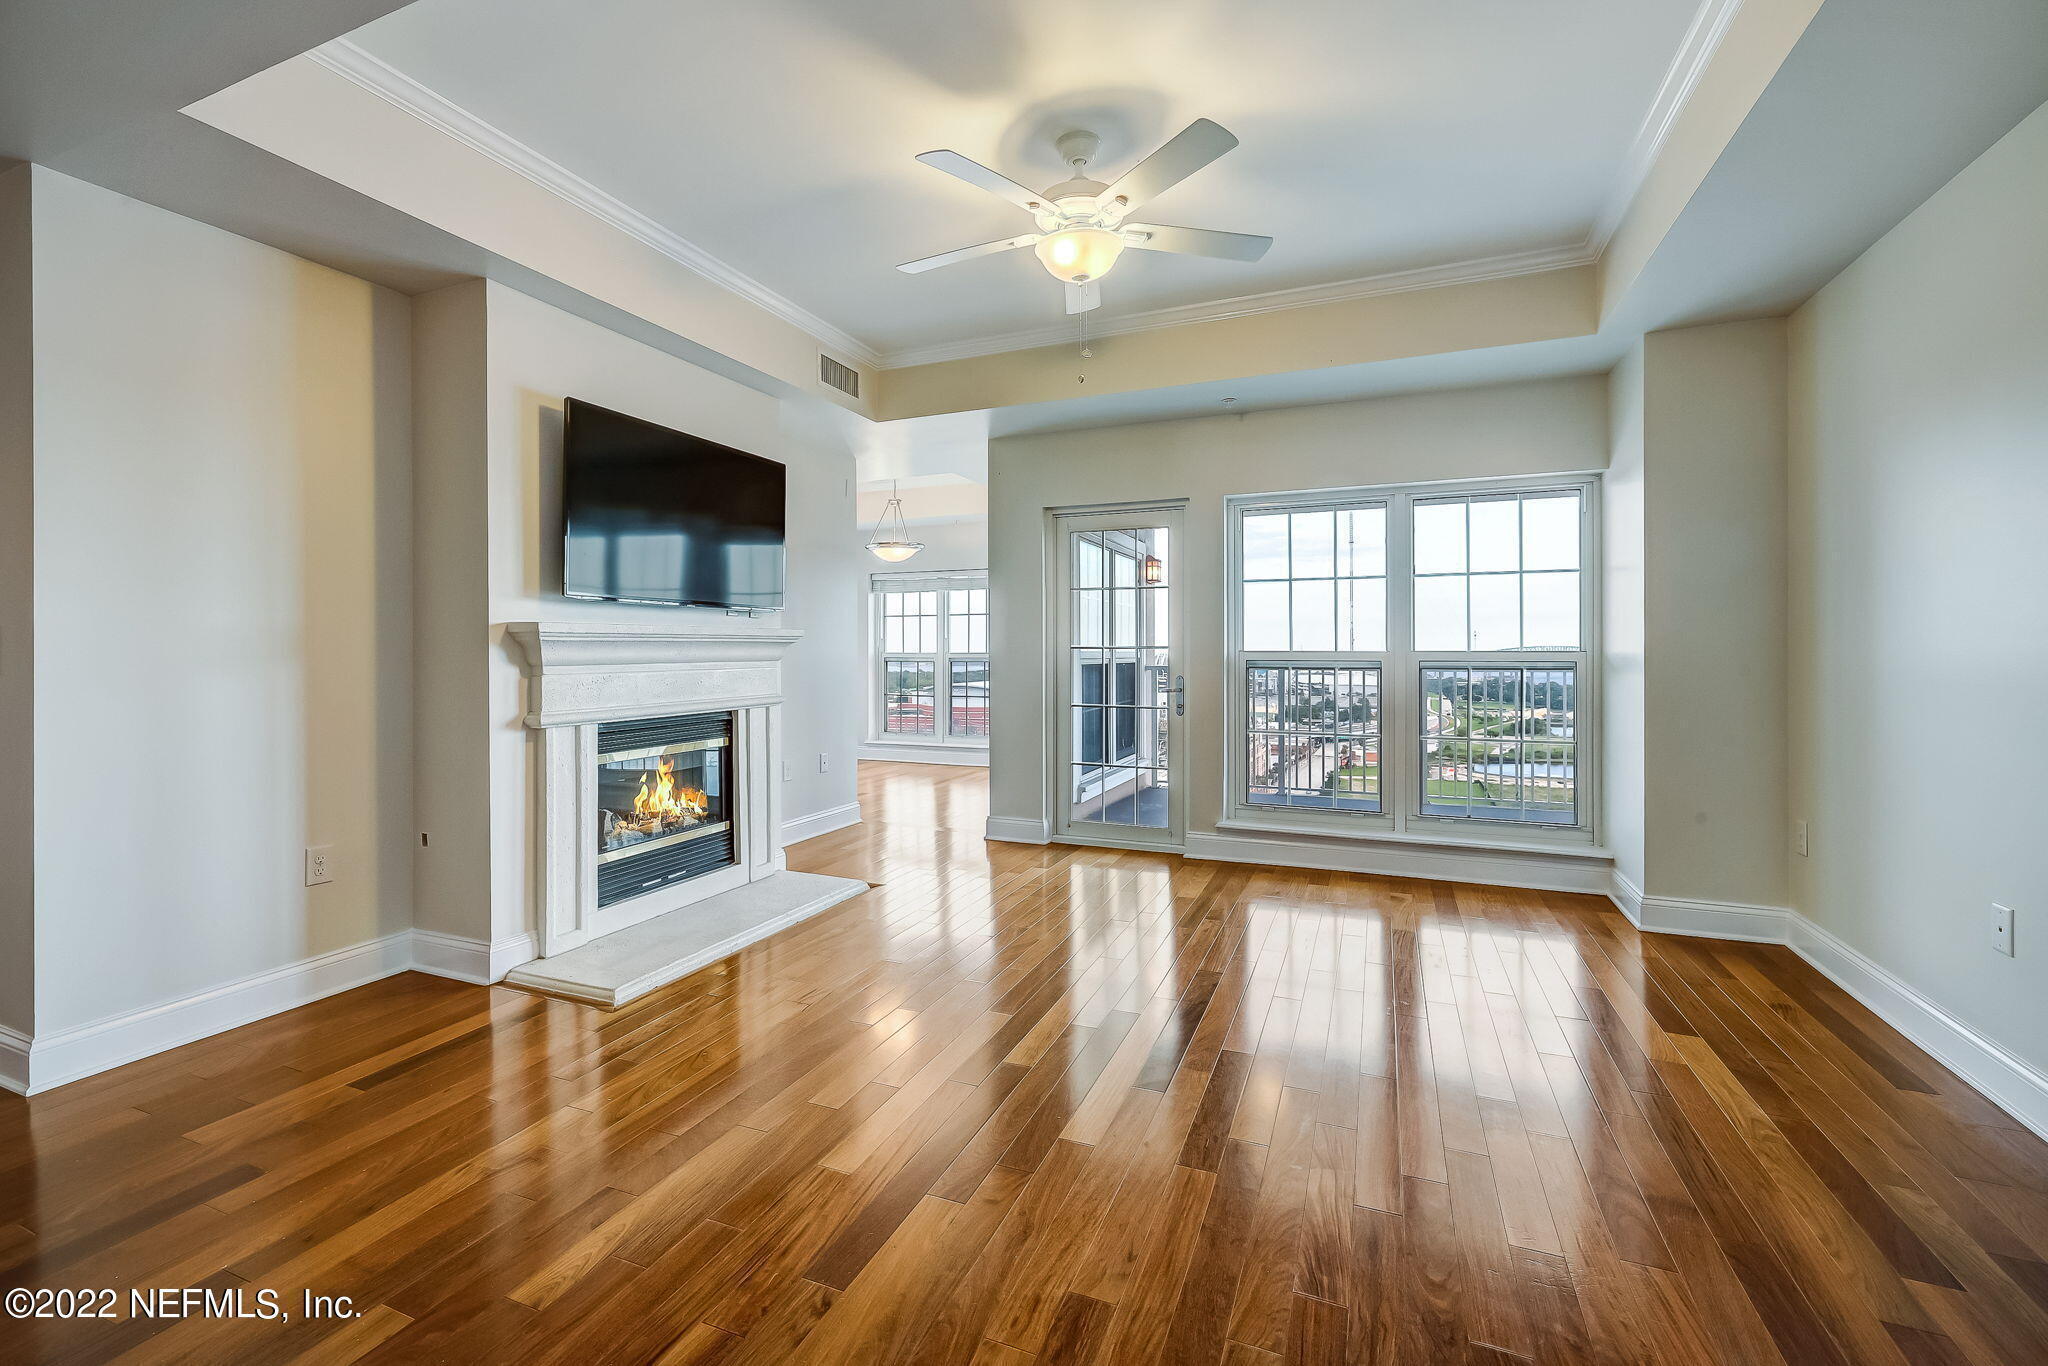
<svg viewBox="0 0 2048 1366">
<path fill-rule="evenodd" d="M 420 399 L 418 924 L 502 942 L 539 926 L 539 737 L 504 625 L 621 621 L 727 631 L 723 610 L 561 596 L 561 401 L 584 397 L 788 465 L 784 821 L 852 807 L 866 555 L 854 537 L 854 432 L 823 401 L 778 399 L 502 285 L 426 295 Z M 741 627 L 743 629 L 743 627 Z M 432 637 L 432 639 L 428 639 Z M 819 772 L 817 756 L 829 766 Z M 481 811 L 477 776 L 487 774 Z"/>
</svg>

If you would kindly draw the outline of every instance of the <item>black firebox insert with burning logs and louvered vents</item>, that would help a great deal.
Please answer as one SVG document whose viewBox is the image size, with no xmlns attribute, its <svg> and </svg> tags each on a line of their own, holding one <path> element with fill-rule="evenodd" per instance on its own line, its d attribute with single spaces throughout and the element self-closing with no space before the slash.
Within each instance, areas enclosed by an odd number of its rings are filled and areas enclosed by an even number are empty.
<svg viewBox="0 0 2048 1366">
<path fill-rule="evenodd" d="M 737 862 L 733 713 L 598 729 L 598 907 Z"/>
</svg>

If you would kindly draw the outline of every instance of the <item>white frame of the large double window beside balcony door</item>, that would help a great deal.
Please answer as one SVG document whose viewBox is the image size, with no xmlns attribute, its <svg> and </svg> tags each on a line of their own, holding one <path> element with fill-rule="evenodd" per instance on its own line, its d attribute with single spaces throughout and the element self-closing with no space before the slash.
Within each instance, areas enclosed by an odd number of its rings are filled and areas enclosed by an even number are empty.
<svg viewBox="0 0 2048 1366">
<path fill-rule="evenodd" d="M 1415 649 L 1415 502 L 1446 496 L 1573 492 L 1579 496 L 1579 647 L 1577 649 Z M 1243 520 L 1264 512 L 1313 512 L 1386 506 L 1386 649 L 1294 651 L 1243 649 Z M 1227 500 L 1225 526 L 1225 788 L 1223 829 L 1272 834 L 1350 836 L 1417 844 L 1462 844 L 1497 850 L 1597 852 L 1599 846 L 1599 475 L 1524 479 L 1446 479 L 1300 494 L 1243 494 Z M 1380 809 L 1321 811 L 1274 807 L 1245 799 L 1249 764 L 1245 670 L 1255 664 L 1337 664 L 1380 672 Z M 1421 745 L 1421 672 L 1436 666 L 1571 666 L 1577 715 L 1577 823 L 1489 821 L 1464 815 L 1425 815 Z"/>
</svg>

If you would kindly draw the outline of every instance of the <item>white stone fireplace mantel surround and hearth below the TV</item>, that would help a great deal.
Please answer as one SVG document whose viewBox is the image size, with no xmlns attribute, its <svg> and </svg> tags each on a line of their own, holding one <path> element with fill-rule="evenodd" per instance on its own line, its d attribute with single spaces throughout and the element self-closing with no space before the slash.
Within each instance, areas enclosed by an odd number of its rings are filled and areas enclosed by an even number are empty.
<svg viewBox="0 0 2048 1366">
<path fill-rule="evenodd" d="M 764 887 L 770 879 L 803 877 L 784 872 L 782 784 L 778 780 L 782 772 L 782 655 L 803 639 L 803 633 L 743 627 L 680 631 L 666 625 L 545 621 L 506 623 L 504 633 L 524 655 L 524 721 L 539 733 L 543 750 L 535 813 L 543 862 L 543 956 L 539 963 L 518 969 L 514 979 L 532 977 L 528 985 L 616 1004 L 616 993 L 565 987 L 563 981 L 573 979 L 569 965 L 551 969 L 549 958 L 657 917 L 662 924 L 674 920 L 684 928 L 700 920 L 705 926 L 721 926 L 723 934 L 715 942 L 698 944 L 692 952 L 680 952 L 668 965 L 674 973 L 666 979 L 696 967 L 694 958 L 711 948 L 731 952 L 741 942 L 750 942 L 745 934 L 729 932 L 733 924 L 745 920 L 743 907 L 776 901 L 772 889 Z M 598 907 L 598 725 L 711 711 L 733 715 L 731 809 L 739 825 L 737 862 L 631 901 Z M 844 879 L 829 881 L 842 883 Z M 864 883 L 850 883 L 831 899 L 864 889 Z M 786 897 L 782 899 L 786 901 Z M 711 905 L 711 901 L 721 901 L 721 905 Z M 829 905 L 829 901 L 825 903 Z M 735 905 L 741 907 L 737 920 Z M 690 913 L 678 917 L 676 913 L 684 909 Z M 778 924 L 791 924 L 786 907 L 778 913 Z M 651 930 L 659 930 L 659 926 Z M 651 930 L 637 930 L 633 942 L 647 940 Z M 684 948 L 690 948 L 688 942 Z M 604 956 L 596 944 L 592 944 L 592 952 Z M 592 952 L 582 956 L 592 956 Z M 649 969 L 645 952 L 639 958 L 635 981 L 641 983 L 639 989 L 647 989 L 645 981 L 662 979 L 666 969 L 659 965 Z"/>
</svg>

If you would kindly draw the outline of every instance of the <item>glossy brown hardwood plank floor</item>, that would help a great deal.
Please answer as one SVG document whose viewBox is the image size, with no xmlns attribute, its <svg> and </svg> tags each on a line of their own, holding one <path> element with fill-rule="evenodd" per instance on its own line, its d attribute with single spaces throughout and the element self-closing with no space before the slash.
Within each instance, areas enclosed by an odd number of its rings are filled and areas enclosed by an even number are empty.
<svg viewBox="0 0 2048 1366">
<path fill-rule="evenodd" d="M 2048 1360 L 2048 1147 L 1790 952 L 985 805 L 864 764 L 793 864 L 874 891 L 618 1012 L 408 973 L 0 1096 L 0 1282 L 119 1292 L 0 1360 Z"/>
</svg>

